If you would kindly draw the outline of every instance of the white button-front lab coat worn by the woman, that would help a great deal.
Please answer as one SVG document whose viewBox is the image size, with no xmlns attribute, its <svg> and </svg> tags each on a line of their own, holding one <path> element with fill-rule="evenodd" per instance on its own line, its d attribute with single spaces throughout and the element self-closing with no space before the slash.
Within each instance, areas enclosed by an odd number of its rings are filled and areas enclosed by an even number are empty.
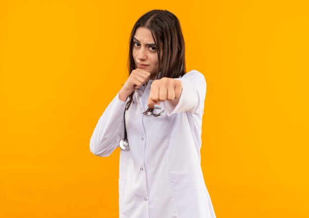
<svg viewBox="0 0 309 218">
<path fill-rule="evenodd" d="M 182 78 L 176 107 L 161 102 L 165 116 L 143 115 L 153 80 L 133 96 L 125 114 L 130 150 L 120 150 L 119 218 L 215 218 L 200 166 L 206 81 L 191 70 Z M 118 93 L 99 119 L 90 151 L 109 156 L 124 137 L 126 101 Z"/>
</svg>

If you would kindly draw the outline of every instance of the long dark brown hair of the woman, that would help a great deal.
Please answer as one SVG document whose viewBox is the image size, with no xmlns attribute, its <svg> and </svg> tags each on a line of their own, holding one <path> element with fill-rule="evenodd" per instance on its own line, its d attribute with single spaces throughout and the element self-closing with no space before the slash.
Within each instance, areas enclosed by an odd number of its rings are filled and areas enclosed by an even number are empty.
<svg viewBox="0 0 309 218">
<path fill-rule="evenodd" d="M 133 58 L 133 36 L 139 27 L 147 28 L 151 31 L 154 43 L 157 48 L 158 72 L 156 79 L 162 77 L 179 78 L 186 73 L 185 62 L 185 40 L 181 31 L 178 18 L 167 10 L 151 10 L 140 17 L 131 31 L 129 40 L 129 58 L 128 70 L 129 75 L 136 68 Z M 162 57 L 161 57 L 162 55 Z M 133 101 L 133 91 L 129 95 L 129 101 L 126 104 L 126 110 Z M 134 101 L 133 101 L 134 103 Z M 153 111 L 153 109 L 148 109 Z"/>
</svg>

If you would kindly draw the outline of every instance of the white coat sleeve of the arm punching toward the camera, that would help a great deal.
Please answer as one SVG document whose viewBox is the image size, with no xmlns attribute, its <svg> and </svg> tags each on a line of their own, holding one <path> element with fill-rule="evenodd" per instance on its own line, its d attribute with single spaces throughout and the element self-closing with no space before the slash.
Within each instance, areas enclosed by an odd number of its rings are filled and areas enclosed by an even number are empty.
<svg viewBox="0 0 309 218">
<path fill-rule="evenodd" d="M 180 112 L 203 113 L 206 95 L 204 75 L 197 70 L 191 70 L 182 78 L 175 78 L 175 80 L 182 82 L 183 90 L 176 106 L 173 106 L 170 101 L 162 102 L 166 115 L 171 116 Z"/>
</svg>

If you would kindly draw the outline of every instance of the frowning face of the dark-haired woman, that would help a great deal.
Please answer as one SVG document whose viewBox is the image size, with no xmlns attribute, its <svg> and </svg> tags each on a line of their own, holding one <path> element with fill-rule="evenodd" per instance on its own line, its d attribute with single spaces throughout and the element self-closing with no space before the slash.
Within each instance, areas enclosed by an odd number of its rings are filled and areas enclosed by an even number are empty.
<svg viewBox="0 0 309 218">
<path fill-rule="evenodd" d="M 132 51 L 136 67 L 150 72 L 150 79 L 154 79 L 158 71 L 158 56 L 150 30 L 144 27 L 136 30 Z"/>
</svg>

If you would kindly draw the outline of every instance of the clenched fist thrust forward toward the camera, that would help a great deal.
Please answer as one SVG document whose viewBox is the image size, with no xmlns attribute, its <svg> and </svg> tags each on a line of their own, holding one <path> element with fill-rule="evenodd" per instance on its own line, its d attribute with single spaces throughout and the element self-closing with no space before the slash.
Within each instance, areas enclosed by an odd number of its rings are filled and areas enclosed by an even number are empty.
<svg viewBox="0 0 309 218">
<path fill-rule="evenodd" d="M 154 80 L 151 85 L 150 95 L 148 98 L 148 107 L 154 108 L 154 104 L 159 105 L 158 101 L 171 101 L 176 106 L 182 92 L 182 82 L 172 78 L 163 77 Z"/>
</svg>

